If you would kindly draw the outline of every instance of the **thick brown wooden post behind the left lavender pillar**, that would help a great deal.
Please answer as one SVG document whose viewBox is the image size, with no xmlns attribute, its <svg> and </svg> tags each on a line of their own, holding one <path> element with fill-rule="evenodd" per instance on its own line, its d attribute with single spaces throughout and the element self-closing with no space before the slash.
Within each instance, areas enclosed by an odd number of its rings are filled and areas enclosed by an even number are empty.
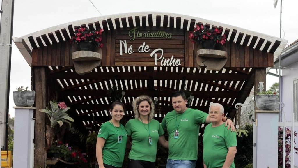
<svg viewBox="0 0 298 168">
<path fill-rule="evenodd" d="M 46 167 L 45 113 L 39 112 L 46 106 L 46 70 L 34 67 L 35 81 L 35 151 L 34 168 Z"/>
</svg>

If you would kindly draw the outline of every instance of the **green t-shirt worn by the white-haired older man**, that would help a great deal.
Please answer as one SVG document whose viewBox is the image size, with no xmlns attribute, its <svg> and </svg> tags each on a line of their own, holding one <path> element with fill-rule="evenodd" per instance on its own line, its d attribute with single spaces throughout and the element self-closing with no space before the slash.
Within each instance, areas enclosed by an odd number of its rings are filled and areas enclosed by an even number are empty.
<svg viewBox="0 0 298 168">
<path fill-rule="evenodd" d="M 208 124 L 204 130 L 203 159 L 208 168 L 221 168 L 226 160 L 229 147 L 237 146 L 236 133 L 227 130 L 225 123 L 212 127 Z M 235 168 L 234 161 L 230 168 Z"/>
</svg>

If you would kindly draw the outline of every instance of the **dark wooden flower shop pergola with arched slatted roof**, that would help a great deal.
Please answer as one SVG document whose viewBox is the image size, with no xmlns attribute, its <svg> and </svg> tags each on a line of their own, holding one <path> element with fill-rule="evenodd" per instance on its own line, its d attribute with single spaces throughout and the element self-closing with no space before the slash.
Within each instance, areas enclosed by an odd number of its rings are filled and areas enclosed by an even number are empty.
<svg viewBox="0 0 298 168">
<path fill-rule="evenodd" d="M 224 50 L 227 62 L 220 71 L 198 69 L 197 44 L 188 38 L 195 23 L 208 28 L 221 27 L 227 36 Z M 91 73 L 78 75 L 72 61 L 77 51 L 69 39 L 75 36 L 77 26 L 103 28 L 102 62 Z M 130 41 L 129 30 L 139 27 L 140 31 L 166 31 L 171 39 L 138 38 Z M 186 90 L 194 99 L 191 108 L 207 112 L 212 102 L 226 107 L 226 116 L 235 117 L 236 103 L 244 103 L 258 81 L 266 81 L 265 67 L 273 62 L 285 47 L 284 39 L 245 30 L 206 19 L 173 13 L 125 13 L 74 21 L 50 27 L 21 38 L 13 38 L 15 44 L 32 67 L 32 90 L 35 98 L 35 161 L 44 165 L 45 115 L 38 112 L 48 101 L 58 98 L 71 108 L 69 115 L 76 126 L 100 126 L 110 117 L 109 93 L 118 88 L 125 91 L 125 117 L 132 118 L 131 102 L 139 95 L 158 98 L 155 119 L 161 121 L 173 110 L 170 95 L 173 90 Z M 119 54 L 119 41 L 134 44 L 133 54 Z M 181 66 L 156 66 L 150 53 L 139 53 L 137 47 L 145 42 L 151 50 L 162 48 L 164 57 L 174 56 Z M 28 50 L 29 49 L 29 50 Z M 32 50 L 30 50 L 32 49 Z"/>
</svg>

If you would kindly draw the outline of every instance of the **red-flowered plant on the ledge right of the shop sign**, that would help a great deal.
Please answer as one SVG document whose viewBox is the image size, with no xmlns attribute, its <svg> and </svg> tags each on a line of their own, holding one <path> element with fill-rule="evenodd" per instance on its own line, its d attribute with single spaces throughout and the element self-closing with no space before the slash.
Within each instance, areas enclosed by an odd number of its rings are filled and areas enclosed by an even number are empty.
<svg viewBox="0 0 298 168">
<path fill-rule="evenodd" d="M 212 40 L 216 43 L 224 45 L 226 43 L 226 35 L 221 36 L 223 29 L 217 27 L 215 29 L 207 29 L 206 26 L 199 25 L 198 23 L 195 25 L 193 31 L 189 32 L 188 37 L 191 39 L 191 42 L 194 43 L 197 41 L 198 43 Z"/>
</svg>

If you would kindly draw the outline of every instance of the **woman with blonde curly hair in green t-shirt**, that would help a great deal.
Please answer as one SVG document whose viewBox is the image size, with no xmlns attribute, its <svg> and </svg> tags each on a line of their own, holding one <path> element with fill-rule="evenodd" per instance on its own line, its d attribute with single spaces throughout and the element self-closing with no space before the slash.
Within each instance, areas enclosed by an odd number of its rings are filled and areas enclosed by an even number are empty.
<svg viewBox="0 0 298 168">
<path fill-rule="evenodd" d="M 154 120 L 154 103 L 147 95 L 141 95 L 133 102 L 135 118 L 125 125 L 128 141 L 132 140 L 128 168 L 154 168 L 157 142 L 168 148 L 164 130 Z"/>
</svg>

